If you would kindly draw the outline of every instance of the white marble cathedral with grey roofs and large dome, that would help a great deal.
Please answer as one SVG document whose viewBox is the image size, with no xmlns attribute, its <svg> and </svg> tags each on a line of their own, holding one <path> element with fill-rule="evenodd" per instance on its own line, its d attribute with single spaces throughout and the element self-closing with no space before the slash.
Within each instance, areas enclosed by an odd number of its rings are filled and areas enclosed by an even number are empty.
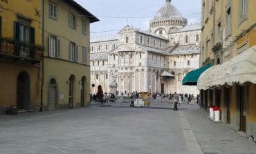
<svg viewBox="0 0 256 154">
<path fill-rule="evenodd" d="M 183 77 L 199 68 L 201 24 L 188 24 L 179 10 L 166 0 L 149 30 L 129 25 L 117 35 L 91 39 L 91 92 L 101 85 L 105 93 L 193 93 Z"/>
</svg>

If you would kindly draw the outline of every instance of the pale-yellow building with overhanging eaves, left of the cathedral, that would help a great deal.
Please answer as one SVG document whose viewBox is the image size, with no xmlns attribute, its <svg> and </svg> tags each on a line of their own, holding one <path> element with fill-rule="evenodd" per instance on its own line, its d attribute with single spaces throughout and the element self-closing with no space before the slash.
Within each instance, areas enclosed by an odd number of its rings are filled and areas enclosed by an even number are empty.
<svg viewBox="0 0 256 154">
<path fill-rule="evenodd" d="M 89 106 L 90 23 L 99 21 L 73 0 L 44 0 L 42 107 Z"/>
</svg>

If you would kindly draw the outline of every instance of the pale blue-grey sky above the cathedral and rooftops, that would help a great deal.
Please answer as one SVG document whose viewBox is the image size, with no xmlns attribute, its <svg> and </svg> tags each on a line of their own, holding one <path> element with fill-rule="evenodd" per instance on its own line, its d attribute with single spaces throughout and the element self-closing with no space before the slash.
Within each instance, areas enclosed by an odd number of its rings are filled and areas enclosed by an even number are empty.
<svg viewBox="0 0 256 154">
<path fill-rule="evenodd" d="M 100 21 L 91 23 L 91 37 L 115 35 L 127 24 L 149 29 L 149 21 L 165 0 L 75 0 Z M 188 24 L 201 21 L 201 0 L 172 0 Z"/>
</svg>

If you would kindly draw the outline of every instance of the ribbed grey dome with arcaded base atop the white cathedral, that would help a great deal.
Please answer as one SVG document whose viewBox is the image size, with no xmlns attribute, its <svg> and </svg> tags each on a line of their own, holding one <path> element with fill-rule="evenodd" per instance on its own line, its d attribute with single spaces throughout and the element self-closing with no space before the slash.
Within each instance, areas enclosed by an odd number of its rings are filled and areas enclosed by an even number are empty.
<svg viewBox="0 0 256 154">
<path fill-rule="evenodd" d="M 185 26 L 187 19 L 185 19 L 181 12 L 171 4 L 171 0 L 165 0 L 165 6 L 163 6 L 154 19 L 150 21 L 150 27 L 157 26 Z"/>
</svg>

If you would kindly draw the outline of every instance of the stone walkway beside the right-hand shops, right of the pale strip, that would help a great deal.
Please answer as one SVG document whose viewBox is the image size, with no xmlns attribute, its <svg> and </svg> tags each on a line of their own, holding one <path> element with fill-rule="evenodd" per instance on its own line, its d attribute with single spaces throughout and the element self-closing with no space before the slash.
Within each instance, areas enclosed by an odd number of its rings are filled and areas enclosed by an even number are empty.
<svg viewBox="0 0 256 154">
<path fill-rule="evenodd" d="M 204 153 L 256 153 L 256 144 L 221 122 L 212 122 L 201 110 L 183 110 Z"/>
</svg>

